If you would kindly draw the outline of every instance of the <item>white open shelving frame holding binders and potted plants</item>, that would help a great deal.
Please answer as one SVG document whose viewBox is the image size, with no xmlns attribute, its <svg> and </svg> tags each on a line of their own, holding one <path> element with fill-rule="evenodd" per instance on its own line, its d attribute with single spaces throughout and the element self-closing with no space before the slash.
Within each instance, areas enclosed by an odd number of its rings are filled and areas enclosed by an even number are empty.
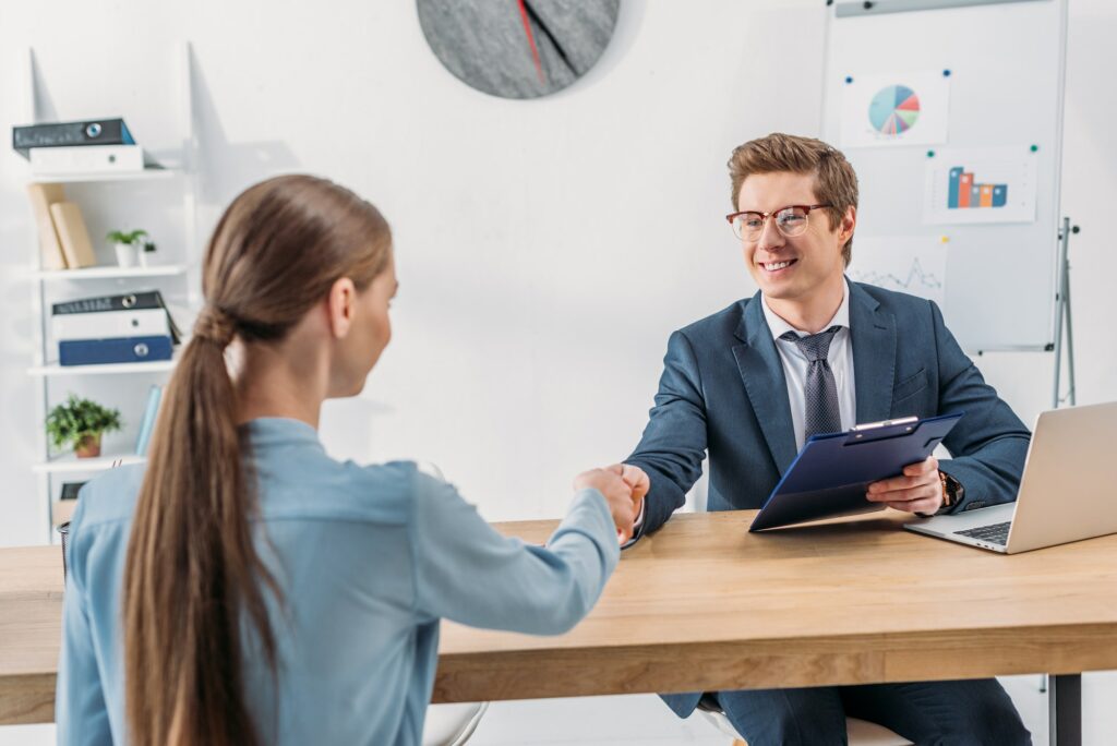
<svg viewBox="0 0 1117 746">
<path fill-rule="evenodd" d="M 31 365 L 28 367 L 28 374 L 37 381 L 35 385 L 37 400 L 36 422 L 31 423 L 30 430 L 37 433 L 36 447 L 39 460 L 31 466 L 31 469 L 36 476 L 37 501 L 42 516 L 42 538 L 48 543 L 57 543 L 55 527 L 68 519 L 69 513 L 74 507 L 71 500 L 58 501 L 60 487 L 64 481 L 82 481 L 117 463 L 139 463 L 144 460 L 142 457 L 128 452 L 104 452 L 101 458 L 94 459 L 78 459 L 73 453 L 55 453 L 47 440 L 44 422 L 50 408 L 64 399 L 63 389 L 70 386 L 79 389 L 93 388 L 99 392 L 107 392 L 105 395 L 109 399 L 124 402 L 121 409 L 126 422 L 131 421 L 135 423 L 143 412 L 150 385 L 165 384 L 170 372 L 176 363 L 176 360 L 172 358 L 170 361 L 147 363 L 59 365 L 57 362 L 57 344 L 50 336 L 50 303 L 66 298 L 142 290 L 146 289 L 143 285 L 145 281 L 160 281 L 164 284 L 161 286 L 161 289 L 164 290 L 164 296 L 166 295 L 165 288 L 173 286 L 172 294 L 181 302 L 175 307 L 175 310 L 179 310 L 179 307 L 184 304 L 185 310 L 192 315 L 200 303 L 200 260 L 198 257 L 198 242 L 195 240 L 197 184 L 194 173 L 194 164 L 198 162 L 198 157 L 197 138 L 193 127 L 193 86 L 191 80 L 191 51 L 189 44 L 181 45 L 175 56 L 178 58 L 175 66 L 179 69 L 174 75 L 174 86 L 168 92 L 173 93 L 174 89 L 178 89 L 178 95 L 173 98 L 173 101 L 176 101 L 175 108 L 178 111 L 173 118 L 173 122 L 176 123 L 174 125 L 175 132 L 172 134 L 174 141 L 181 143 L 181 152 L 173 152 L 174 149 L 170 149 L 172 152 L 169 155 L 162 151 L 159 152 L 157 157 L 168 168 L 121 173 L 98 172 L 44 176 L 28 174 L 29 182 L 84 184 L 79 189 L 82 194 L 85 194 L 87 198 L 90 198 L 90 195 L 99 198 L 101 202 L 107 201 L 106 203 L 111 205 L 113 204 L 112 200 L 116 199 L 116 194 L 114 192 L 106 193 L 101 190 L 125 190 L 120 192 L 120 194 L 126 199 L 127 194 L 133 193 L 131 190 L 142 189 L 146 192 L 146 200 L 150 203 L 153 200 L 152 194 L 155 194 L 154 199 L 156 200 L 162 197 L 160 190 L 171 190 L 173 193 L 176 183 L 181 187 L 181 202 L 174 199 L 169 205 L 164 205 L 169 211 L 166 214 L 160 217 L 164 222 L 171 220 L 172 223 L 181 222 L 182 226 L 182 245 L 178 248 L 176 252 L 179 256 L 174 256 L 173 261 L 170 264 L 143 267 L 103 265 L 82 269 L 42 269 L 38 241 L 32 242 L 30 279 L 32 286 L 32 318 L 36 319 L 36 323 L 32 324 L 32 350 L 35 353 Z M 37 69 L 34 49 L 27 50 L 26 64 L 26 122 L 38 123 L 47 118 L 54 118 L 49 116 L 52 112 L 45 113 L 40 111 L 42 108 L 40 101 L 45 101 L 46 97 L 45 92 L 37 89 L 42 77 L 41 70 Z M 40 94 L 42 95 L 40 96 Z M 112 94 L 112 87 L 109 86 L 105 95 L 111 97 Z M 128 95 L 135 98 L 135 92 L 130 92 L 123 96 L 123 99 L 127 99 Z M 136 104 L 133 101 L 131 109 L 135 111 L 139 105 L 142 104 Z M 120 106 L 120 104 L 115 106 Z M 128 107 L 115 108 L 112 101 L 98 103 L 96 111 L 67 112 L 66 116 L 59 116 L 58 118 L 65 121 L 78 119 L 84 116 L 99 116 L 104 115 L 106 111 L 120 112 L 124 115 L 125 119 L 128 119 Z M 150 137 L 151 133 L 137 134 Z M 164 132 L 163 134 L 168 133 Z M 143 136 L 141 140 L 143 140 Z M 166 137 L 164 137 L 165 140 Z M 128 185 L 133 183 L 135 187 Z M 165 187 L 160 185 L 164 183 L 166 184 Z M 151 191 L 153 189 L 155 192 Z M 112 197 L 102 197 L 104 194 Z M 69 199 L 75 198 L 69 195 Z M 82 202 L 80 199 L 75 199 L 75 201 Z M 97 200 L 95 199 L 94 201 Z M 102 208 L 104 207 L 103 204 Z M 86 208 L 87 205 L 83 205 L 83 211 L 89 214 Z M 151 209 L 150 204 L 147 209 Z M 98 212 L 99 209 L 93 211 L 93 213 Z M 108 216 L 111 212 L 113 210 L 106 211 L 102 217 Z M 151 213 L 142 212 L 141 214 Z M 97 237 L 94 236 L 93 238 L 96 239 Z M 164 236 L 163 238 L 168 237 Z M 156 237 L 156 240 L 161 243 L 162 250 L 164 241 L 159 237 Z M 176 241 L 178 239 L 173 240 Z M 181 288 L 181 293 L 179 293 L 179 288 Z M 189 328 L 187 324 L 192 319 L 175 314 L 175 321 L 183 328 Z"/>
</svg>

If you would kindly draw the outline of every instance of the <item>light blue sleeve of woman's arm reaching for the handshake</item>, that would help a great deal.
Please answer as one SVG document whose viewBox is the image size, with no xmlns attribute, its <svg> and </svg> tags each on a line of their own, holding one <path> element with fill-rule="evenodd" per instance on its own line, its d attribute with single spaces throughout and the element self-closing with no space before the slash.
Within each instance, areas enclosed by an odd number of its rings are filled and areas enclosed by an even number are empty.
<svg viewBox="0 0 1117 746">
<path fill-rule="evenodd" d="M 617 528 L 595 489 L 533 546 L 500 535 L 450 485 L 416 475 L 412 546 L 418 611 L 494 630 L 561 634 L 596 603 L 617 566 Z"/>
</svg>

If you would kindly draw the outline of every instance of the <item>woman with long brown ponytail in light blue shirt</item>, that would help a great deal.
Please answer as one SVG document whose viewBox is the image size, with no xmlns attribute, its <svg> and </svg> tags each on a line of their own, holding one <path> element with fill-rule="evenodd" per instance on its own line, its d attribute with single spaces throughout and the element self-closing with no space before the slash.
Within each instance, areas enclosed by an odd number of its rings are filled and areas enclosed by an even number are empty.
<svg viewBox="0 0 1117 746">
<path fill-rule="evenodd" d="M 323 450 L 395 288 L 388 223 L 349 190 L 233 200 L 147 463 L 86 485 L 70 525 L 60 744 L 417 744 L 440 618 L 557 634 L 589 612 L 646 491 L 621 467 L 580 475 L 535 547 L 412 463 Z"/>
</svg>

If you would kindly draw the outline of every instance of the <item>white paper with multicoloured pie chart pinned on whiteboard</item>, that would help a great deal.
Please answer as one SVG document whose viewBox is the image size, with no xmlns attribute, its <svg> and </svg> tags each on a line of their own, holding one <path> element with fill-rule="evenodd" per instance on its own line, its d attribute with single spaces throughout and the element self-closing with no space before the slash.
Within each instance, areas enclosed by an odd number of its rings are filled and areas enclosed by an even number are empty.
<svg viewBox="0 0 1117 746">
<path fill-rule="evenodd" d="M 839 147 L 946 142 L 951 78 L 928 73 L 846 76 Z"/>
</svg>

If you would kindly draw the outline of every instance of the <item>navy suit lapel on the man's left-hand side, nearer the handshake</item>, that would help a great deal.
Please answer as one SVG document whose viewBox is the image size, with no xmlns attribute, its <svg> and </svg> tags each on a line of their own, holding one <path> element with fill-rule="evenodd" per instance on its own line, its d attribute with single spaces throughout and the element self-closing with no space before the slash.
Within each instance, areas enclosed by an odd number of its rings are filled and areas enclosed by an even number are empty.
<svg viewBox="0 0 1117 746">
<path fill-rule="evenodd" d="M 736 336 L 743 343 L 733 347 L 741 380 L 772 459 L 783 475 L 795 458 L 795 431 L 791 423 L 787 380 L 772 339 L 772 329 L 764 319 L 760 293 L 745 305 Z"/>
</svg>

